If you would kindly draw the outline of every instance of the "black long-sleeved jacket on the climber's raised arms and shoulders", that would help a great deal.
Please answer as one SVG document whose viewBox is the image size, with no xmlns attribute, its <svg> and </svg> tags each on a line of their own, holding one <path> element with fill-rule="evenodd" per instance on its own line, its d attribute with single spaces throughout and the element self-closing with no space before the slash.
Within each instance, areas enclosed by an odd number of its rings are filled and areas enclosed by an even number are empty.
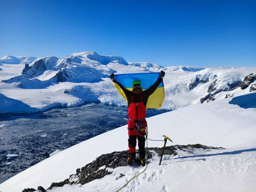
<svg viewBox="0 0 256 192">
<path fill-rule="evenodd" d="M 127 89 L 125 89 L 119 82 L 117 82 L 115 79 L 113 81 L 114 83 L 118 84 L 119 87 L 123 90 L 126 98 L 127 98 L 127 102 L 128 102 L 128 106 L 131 104 L 132 102 L 132 94 L 134 94 L 133 96 L 133 102 L 134 103 L 139 103 L 140 102 L 140 94 L 135 94 L 132 91 L 129 91 Z M 142 91 L 142 102 L 145 105 L 145 107 L 147 106 L 147 102 L 148 102 L 148 98 L 149 96 L 154 93 L 154 91 L 157 89 L 158 85 L 162 82 L 162 78 L 159 77 L 159 79 L 147 90 Z"/>
</svg>

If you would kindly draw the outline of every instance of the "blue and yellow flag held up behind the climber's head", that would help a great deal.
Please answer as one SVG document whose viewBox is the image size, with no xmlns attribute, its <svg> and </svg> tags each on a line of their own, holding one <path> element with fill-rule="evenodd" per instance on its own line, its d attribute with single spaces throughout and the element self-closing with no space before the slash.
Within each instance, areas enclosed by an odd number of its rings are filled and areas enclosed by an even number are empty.
<svg viewBox="0 0 256 192">
<path fill-rule="evenodd" d="M 144 91 L 149 87 L 151 87 L 151 85 L 153 85 L 158 80 L 159 77 L 160 77 L 160 73 L 131 73 L 131 74 L 114 75 L 114 79 L 117 80 L 123 87 L 125 87 L 130 91 L 132 91 L 133 89 L 132 82 L 135 80 L 139 80 L 141 82 L 141 88 Z M 122 89 L 116 83 L 114 82 L 112 83 L 127 102 L 126 96 L 122 91 Z M 148 102 L 147 102 L 147 108 L 150 108 L 150 109 L 159 108 L 161 107 L 163 100 L 164 100 L 164 83 L 162 80 L 162 82 L 157 87 L 155 92 L 149 96 Z"/>
</svg>

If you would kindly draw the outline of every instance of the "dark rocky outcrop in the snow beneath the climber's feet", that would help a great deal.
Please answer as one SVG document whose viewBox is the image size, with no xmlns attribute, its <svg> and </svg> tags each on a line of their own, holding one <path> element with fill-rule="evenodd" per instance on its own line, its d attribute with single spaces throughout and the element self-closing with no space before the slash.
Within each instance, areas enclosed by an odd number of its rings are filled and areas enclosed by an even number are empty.
<svg viewBox="0 0 256 192">
<path fill-rule="evenodd" d="M 165 147 L 164 155 L 177 155 L 178 151 L 185 151 L 187 153 L 194 154 L 193 151 L 196 149 L 223 149 L 221 147 L 209 147 L 201 144 L 195 145 L 175 145 L 175 146 L 167 146 Z M 151 159 L 154 155 L 160 156 L 162 153 L 162 148 L 159 147 L 150 147 L 148 148 L 147 158 Z M 65 179 L 62 182 L 52 183 L 48 189 L 52 189 L 53 187 L 62 187 L 65 184 L 86 184 L 95 179 L 103 178 L 106 175 L 112 173 L 112 169 L 121 166 L 127 166 L 128 158 L 128 150 L 127 151 L 115 151 L 108 154 L 103 154 L 97 157 L 93 162 L 85 165 L 81 169 L 76 169 L 76 173 L 70 175 L 69 179 Z M 135 163 L 132 166 L 139 166 L 138 163 Z M 125 176 L 120 173 L 117 179 Z"/>
</svg>

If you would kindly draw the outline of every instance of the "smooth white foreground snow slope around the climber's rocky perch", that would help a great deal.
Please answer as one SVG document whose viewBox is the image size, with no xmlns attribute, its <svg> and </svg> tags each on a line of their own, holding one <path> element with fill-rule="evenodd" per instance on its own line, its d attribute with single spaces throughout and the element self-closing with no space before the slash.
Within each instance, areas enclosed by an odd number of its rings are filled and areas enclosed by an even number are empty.
<svg viewBox="0 0 256 192">
<path fill-rule="evenodd" d="M 168 146 L 200 143 L 227 149 L 195 156 L 186 153 L 178 157 L 164 156 L 161 166 L 156 157 L 149 162 L 145 174 L 123 191 L 253 191 L 256 188 L 256 108 L 250 102 L 256 100 L 256 92 L 242 97 L 191 105 L 148 118 L 149 138 L 162 139 L 162 135 L 167 135 L 174 142 L 168 142 Z M 239 101 L 246 98 L 248 102 L 241 105 Z M 149 147 L 162 145 L 163 142 L 148 141 Z M 45 159 L 0 184 L 0 191 L 16 192 L 39 185 L 47 188 L 52 182 L 69 178 L 77 168 L 101 154 L 127 148 L 126 125 Z M 112 174 L 81 188 L 66 185 L 48 191 L 115 191 L 142 170 L 118 167 Z M 125 176 L 116 180 L 119 173 Z"/>
</svg>

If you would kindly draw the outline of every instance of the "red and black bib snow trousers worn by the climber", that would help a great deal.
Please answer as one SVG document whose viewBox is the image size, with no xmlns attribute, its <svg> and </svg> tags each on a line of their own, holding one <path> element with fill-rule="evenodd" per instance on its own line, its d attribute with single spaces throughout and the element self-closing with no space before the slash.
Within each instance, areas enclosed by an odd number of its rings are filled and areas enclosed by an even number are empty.
<svg viewBox="0 0 256 192">
<path fill-rule="evenodd" d="M 129 153 L 135 153 L 135 148 L 138 139 L 139 155 L 145 158 L 145 135 L 146 135 L 146 107 L 142 102 L 142 94 L 140 102 L 133 102 L 134 95 L 131 97 L 131 104 L 128 107 L 128 147 Z M 136 126 L 137 125 L 137 126 Z"/>
</svg>

